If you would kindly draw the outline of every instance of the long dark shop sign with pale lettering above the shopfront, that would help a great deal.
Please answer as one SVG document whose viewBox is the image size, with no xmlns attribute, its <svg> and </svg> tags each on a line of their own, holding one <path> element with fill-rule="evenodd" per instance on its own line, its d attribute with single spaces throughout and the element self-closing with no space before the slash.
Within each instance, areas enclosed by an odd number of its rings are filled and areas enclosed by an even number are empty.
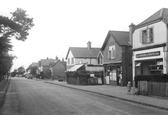
<svg viewBox="0 0 168 115">
<path fill-rule="evenodd" d="M 136 58 L 159 56 L 160 51 L 136 54 Z"/>
</svg>

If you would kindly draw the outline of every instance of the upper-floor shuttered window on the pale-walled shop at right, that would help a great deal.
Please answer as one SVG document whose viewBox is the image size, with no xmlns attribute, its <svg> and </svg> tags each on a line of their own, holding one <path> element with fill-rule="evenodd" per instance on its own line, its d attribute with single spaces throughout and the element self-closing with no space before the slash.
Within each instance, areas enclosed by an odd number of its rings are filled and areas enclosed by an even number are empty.
<svg viewBox="0 0 168 115">
<path fill-rule="evenodd" d="M 142 44 L 153 43 L 153 28 L 147 28 L 146 30 L 142 30 L 140 35 L 140 42 Z"/>
</svg>

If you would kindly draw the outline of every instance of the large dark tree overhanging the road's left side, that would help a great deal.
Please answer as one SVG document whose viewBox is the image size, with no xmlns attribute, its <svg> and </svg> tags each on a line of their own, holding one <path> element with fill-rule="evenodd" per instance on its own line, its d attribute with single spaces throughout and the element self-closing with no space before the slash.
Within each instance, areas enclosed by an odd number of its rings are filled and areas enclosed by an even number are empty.
<svg viewBox="0 0 168 115">
<path fill-rule="evenodd" d="M 11 15 L 11 18 L 0 16 L 0 78 L 9 72 L 13 64 L 14 56 L 8 55 L 12 50 L 11 37 L 25 41 L 34 26 L 33 18 L 29 18 L 23 9 L 17 8 Z"/>
</svg>

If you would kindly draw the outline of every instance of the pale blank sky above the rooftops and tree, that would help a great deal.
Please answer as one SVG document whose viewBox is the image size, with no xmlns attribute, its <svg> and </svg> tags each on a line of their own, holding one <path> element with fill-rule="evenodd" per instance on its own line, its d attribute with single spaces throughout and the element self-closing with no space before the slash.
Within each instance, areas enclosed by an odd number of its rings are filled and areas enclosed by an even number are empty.
<svg viewBox="0 0 168 115">
<path fill-rule="evenodd" d="M 109 30 L 128 31 L 167 0 L 0 0 L 0 15 L 22 8 L 34 18 L 35 26 L 25 42 L 11 38 L 12 70 L 41 59 L 65 58 L 69 47 L 101 47 Z"/>
</svg>

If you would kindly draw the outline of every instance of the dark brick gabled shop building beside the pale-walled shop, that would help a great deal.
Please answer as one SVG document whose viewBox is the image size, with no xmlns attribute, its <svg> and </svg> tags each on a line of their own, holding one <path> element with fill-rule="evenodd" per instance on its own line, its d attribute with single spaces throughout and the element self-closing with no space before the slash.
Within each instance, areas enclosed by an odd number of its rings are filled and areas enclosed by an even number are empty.
<svg viewBox="0 0 168 115">
<path fill-rule="evenodd" d="M 126 86 L 128 81 L 132 81 L 129 32 L 109 31 L 97 58 L 99 64 L 104 66 L 105 84 Z"/>
</svg>

